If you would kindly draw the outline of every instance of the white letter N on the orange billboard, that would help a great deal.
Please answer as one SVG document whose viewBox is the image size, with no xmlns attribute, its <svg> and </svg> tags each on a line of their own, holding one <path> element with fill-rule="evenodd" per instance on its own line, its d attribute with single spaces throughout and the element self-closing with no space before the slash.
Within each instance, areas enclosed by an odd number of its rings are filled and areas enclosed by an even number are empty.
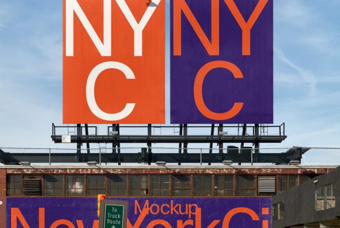
<svg viewBox="0 0 340 228">
<path fill-rule="evenodd" d="M 104 38 L 103 43 L 100 41 L 98 34 L 93 29 L 89 19 L 80 8 L 77 0 L 66 0 L 65 11 L 66 11 L 66 56 L 73 56 L 73 44 L 74 44 L 74 23 L 73 18 L 75 12 L 84 26 L 87 34 L 89 34 L 95 47 L 101 56 L 111 56 L 111 0 L 104 1 L 104 16 L 103 16 L 103 27 L 104 27 Z"/>
</svg>

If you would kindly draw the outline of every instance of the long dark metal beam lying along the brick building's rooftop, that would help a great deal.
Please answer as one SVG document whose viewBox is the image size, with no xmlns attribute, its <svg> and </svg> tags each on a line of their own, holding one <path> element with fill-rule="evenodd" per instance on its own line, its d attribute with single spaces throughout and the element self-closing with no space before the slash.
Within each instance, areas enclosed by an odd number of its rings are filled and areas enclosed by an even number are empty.
<svg viewBox="0 0 340 228">
<path fill-rule="evenodd" d="M 308 148 L 302 148 L 302 154 L 306 152 Z M 291 157 L 297 157 L 296 148 L 292 148 L 287 152 L 282 153 L 258 153 L 253 156 L 258 163 L 277 163 L 288 164 L 291 161 Z M 166 161 L 166 163 L 220 163 L 224 160 L 232 160 L 234 163 L 251 163 L 249 156 L 242 154 L 229 155 L 223 154 L 209 154 L 209 153 L 122 153 L 121 157 L 118 154 L 104 153 L 101 154 L 102 163 L 139 163 L 146 159 L 147 163 L 155 163 L 156 161 Z M 29 161 L 30 163 L 86 163 L 87 161 L 100 161 L 99 153 L 10 153 L 0 150 L 0 161 L 3 164 L 19 164 L 21 161 Z"/>
</svg>

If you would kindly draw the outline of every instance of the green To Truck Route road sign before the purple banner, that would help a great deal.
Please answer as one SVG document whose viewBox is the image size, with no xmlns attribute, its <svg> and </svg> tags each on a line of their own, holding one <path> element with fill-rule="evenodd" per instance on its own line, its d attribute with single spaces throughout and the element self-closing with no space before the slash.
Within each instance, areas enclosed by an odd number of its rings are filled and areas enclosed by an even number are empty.
<svg viewBox="0 0 340 228">
<path fill-rule="evenodd" d="M 100 228 L 126 228 L 128 215 L 127 201 L 100 201 Z"/>
</svg>

